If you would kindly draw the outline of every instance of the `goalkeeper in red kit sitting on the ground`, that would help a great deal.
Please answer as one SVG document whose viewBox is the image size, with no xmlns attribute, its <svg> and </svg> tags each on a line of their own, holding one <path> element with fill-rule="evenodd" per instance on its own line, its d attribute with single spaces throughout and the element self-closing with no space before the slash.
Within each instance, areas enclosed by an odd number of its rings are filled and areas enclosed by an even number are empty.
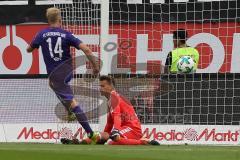
<svg viewBox="0 0 240 160">
<path fill-rule="evenodd" d="M 100 92 L 101 95 L 108 99 L 108 117 L 104 132 L 98 137 L 97 143 L 110 145 L 157 145 L 158 142 L 149 141 L 142 138 L 141 123 L 134 111 L 131 103 L 122 97 L 114 89 L 115 81 L 110 76 L 100 77 Z M 90 144 L 90 139 L 85 139 L 79 142 L 76 139 L 70 141 L 62 139 L 62 143 L 72 144 Z"/>
</svg>

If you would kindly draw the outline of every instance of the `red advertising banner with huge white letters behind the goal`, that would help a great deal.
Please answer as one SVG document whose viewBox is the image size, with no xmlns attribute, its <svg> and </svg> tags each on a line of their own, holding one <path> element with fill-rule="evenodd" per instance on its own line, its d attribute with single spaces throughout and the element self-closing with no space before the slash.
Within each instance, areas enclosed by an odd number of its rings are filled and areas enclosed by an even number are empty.
<svg viewBox="0 0 240 160">
<path fill-rule="evenodd" d="M 0 26 L 0 74 L 46 73 L 40 51 L 35 50 L 32 54 L 26 52 L 34 35 L 45 27 L 47 25 Z M 74 28 L 76 31 L 76 26 Z M 200 53 L 197 72 L 240 72 L 240 27 L 233 22 L 110 25 L 109 42 L 117 46 L 109 52 L 110 60 L 111 56 L 117 55 L 117 64 L 113 65 L 128 68 L 132 73 L 139 70 L 137 64 L 147 64 L 145 69 L 148 72 L 159 73 L 159 64 L 165 63 L 167 54 L 173 49 L 172 32 L 177 28 L 188 31 L 187 43 Z M 97 50 L 99 35 L 83 34 L 83 29 L 79 26 L 74 34 L 90 44 L 93 51 Z M 99 30 L 92 30 L 91 33 L 99 33 Z M 91 42 L 92 39 L 96 41 Z"/>
</svg>

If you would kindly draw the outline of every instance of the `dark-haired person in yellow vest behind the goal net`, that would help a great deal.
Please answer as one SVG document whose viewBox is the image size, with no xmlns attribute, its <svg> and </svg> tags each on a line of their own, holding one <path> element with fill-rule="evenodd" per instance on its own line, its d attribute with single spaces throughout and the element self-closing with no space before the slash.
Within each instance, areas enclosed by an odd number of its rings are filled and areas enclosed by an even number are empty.
<svg viewBox="0 0 240 160">
<path fill-rule="evenodd" d="M 167 56 L 164 68 L 165 73 L 177 73 L 178 60 L 183 56 L 190 56 L 193 58 L 195 61 L 194 71 L 196 71 L 199 61 L 199 53 L 195 48 L 187 46 L 187 37 L 188 33 L 184 29 L 178 29 L 173 32 L 174 50 L 172 50 Z"/>
</svg>

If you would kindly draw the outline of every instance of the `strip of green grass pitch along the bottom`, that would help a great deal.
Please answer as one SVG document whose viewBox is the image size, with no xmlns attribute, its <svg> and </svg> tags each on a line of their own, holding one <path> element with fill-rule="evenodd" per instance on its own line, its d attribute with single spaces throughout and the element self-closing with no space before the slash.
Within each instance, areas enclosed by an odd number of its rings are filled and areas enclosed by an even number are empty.
<svg viewBox="0 0 240 160">
<path fill-rule="evenodd" d="M 0 143 L 1 160 L 240 160 L 240 147 Z"/>
</svg>

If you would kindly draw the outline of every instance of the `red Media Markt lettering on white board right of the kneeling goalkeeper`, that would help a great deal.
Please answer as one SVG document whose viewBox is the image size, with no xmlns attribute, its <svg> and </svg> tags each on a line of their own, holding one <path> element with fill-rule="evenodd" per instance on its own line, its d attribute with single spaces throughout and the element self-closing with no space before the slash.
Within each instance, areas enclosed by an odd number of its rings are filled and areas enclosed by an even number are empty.
<svg viewBox="0 0 240 160">
<path fill-rule="evenodd" d="M 240 130 L 218 131 L 216 128 L 205 128 L 204 130 L 196 130 L 188 128 L 184 131 L 159 131 L 156 128 L 146 128 L 143 132 L 146 138 L 153 138 L 158 141 L 215 141 L 215 142 L 238 142 L 240 138 Z"/>
</svg>

